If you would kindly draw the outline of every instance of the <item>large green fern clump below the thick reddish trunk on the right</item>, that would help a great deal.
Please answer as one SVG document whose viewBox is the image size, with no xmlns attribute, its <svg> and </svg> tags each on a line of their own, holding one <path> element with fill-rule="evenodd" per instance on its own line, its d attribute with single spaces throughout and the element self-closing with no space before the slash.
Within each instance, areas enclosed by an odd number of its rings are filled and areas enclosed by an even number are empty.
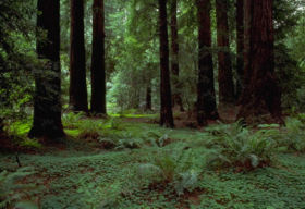
<svg viewBox="0 0 305 209">
<path fill-rule="evenodd" d="M 273 139 L 279 135 L 274 128 L 252 132 L 242 124 L 221 124 L 209 127 L 212 136 L 206 142 L 210 149 L 208 164 L 235 165 L 255 169 L 269 164 L 277 144 Z"/>
</svg>

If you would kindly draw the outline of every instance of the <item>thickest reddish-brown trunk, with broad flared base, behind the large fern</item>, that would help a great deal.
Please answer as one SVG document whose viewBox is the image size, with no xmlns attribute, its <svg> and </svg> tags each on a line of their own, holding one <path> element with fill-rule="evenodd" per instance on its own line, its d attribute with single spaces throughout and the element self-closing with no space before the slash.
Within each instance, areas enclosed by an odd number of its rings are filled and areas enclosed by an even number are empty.
<svg viewBox="0 0 305 209">
<path fill-rule="evenodd" d="M 282 122 L 281 91 L 274 74 L 272 0 L 249 0 L 245 5 L 245 89 L 239 118 L 253 122 Z M 270 121 L 271 120 L 271 121 Z"/>
</svg>

